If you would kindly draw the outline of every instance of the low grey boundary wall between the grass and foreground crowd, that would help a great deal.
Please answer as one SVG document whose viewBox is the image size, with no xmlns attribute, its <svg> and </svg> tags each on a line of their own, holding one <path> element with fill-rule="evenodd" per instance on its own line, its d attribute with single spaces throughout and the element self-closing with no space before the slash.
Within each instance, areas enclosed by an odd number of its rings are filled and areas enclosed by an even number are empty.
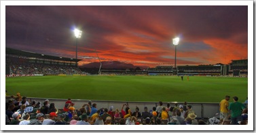
<svg viewBox="0 0 256 133">
<path fill-rule="evenodd" d="M 36 100 L 41 102 L 41 105 L 45 99 L 50 100 L 50 103 L 54 102 L 56 109 L 63 109 L 67 99 L 56 99 L 56 98 L 31 98 L 31 100 Z M 72 99 L 72 102 L 75 103 L 75 109 L 80 109 L 83 104 L 87 104 L 89 100 L 80 100 Z M 158 102 L 131 102 L 131 101 L 111 101 L 111 100 L 91 100 L 92 103 L 97 104 L 97 109 L 107 108 L 113 106 L 114 109 L 121 110 L 122 104 L 129 104 L 131 111 L 135 111 L 136 106 L 139 107 L 140 112 L 144 111 L 144 107 L 147 107 L 148 110 L 151 110 L 153 107 L 158 106 Z M 174 106 L 175 102 L 169 102 L 170 106 Z M 183 104 L 183 102 L 177 102 Z M 163 102 L 163 105 L 166 107 L 167 102 Z M 195 111 L 198 117 L 209 118 L 214 117 L 216 113 L 219 113 L 219 103 L 204 103 L 204 102 L 189 102 L 192 106 L 192 109 Z M 187 105 L 189 105 L 187 104 Z"/>
</svg>

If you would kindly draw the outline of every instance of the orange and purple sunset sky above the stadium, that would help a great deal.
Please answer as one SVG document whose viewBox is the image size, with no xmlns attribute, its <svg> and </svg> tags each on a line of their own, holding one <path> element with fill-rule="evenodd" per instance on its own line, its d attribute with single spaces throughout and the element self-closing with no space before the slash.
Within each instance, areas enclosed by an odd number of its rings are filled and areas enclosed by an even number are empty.
<svg viewBox="0 0 256 133">
<path fill-rule="evenodd" d="M 5 7 L 5 47 L 75 58 L 79 65 L 120 61 L 156 67 L 248 58 L 246 5 L 86 5 Z"/>
</svg>

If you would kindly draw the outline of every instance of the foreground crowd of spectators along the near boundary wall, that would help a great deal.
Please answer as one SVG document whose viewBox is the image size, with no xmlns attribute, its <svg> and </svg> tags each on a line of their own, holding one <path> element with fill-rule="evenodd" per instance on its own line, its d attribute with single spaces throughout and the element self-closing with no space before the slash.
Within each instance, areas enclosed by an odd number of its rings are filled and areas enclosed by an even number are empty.
<svg viewBox="0 0 256 133">
<path fill-rule="evenodd" d="M 217 125 L 217 124 L 247 124 L 248 106 L 238 102 L 228 103 L 230 96 L 221 100 L 220 119 L 217 115 L 204 119 L 197 117 L 192 106 L 184 104 L 166 104 L 158 102 L 157 107 L 148 109 L 139 107 L 132 111 L 128 104 L 123 104 L 121 109 L 113 106 L 107 108 L 97 107 L 96 103 L 88 101 L 79 109 L 75 109 L 71 98 L 63 103 L 62 109 L 56 109 L 54 103 L 46 99 L 43 104 L 20 96 L 8 96 L 5 104 L 6 125 Z"/>
</svg>

